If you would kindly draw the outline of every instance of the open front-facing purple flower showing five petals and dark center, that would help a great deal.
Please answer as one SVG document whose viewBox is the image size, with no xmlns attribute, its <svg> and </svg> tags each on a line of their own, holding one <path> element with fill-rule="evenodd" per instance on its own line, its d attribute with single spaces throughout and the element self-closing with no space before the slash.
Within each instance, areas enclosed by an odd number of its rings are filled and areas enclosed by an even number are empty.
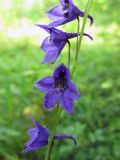
<svg viewBox="0 0 120 160">
<path fill-rule="evenodd" d="M 45 92 L 44 107 L 46 109 L 51 109 L 60 103 L 66 112 L 72 114 L 73 101 L 80 98 L 80 93 L 71 82 L 70 72 L 64 64 L 55 69 L 53 76 L 36 81 L 35 87 Z"/>
</svg>

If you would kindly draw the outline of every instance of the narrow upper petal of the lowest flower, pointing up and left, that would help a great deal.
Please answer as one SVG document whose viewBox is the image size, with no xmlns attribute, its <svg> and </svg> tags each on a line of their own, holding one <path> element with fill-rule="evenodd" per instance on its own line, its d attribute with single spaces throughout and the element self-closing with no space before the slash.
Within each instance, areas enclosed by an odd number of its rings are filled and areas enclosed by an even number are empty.
<svg viewBox="0 0 120 160">
<path fill-rule="evenodd" d="M 42 125 L 40 125 L 37 121 L 35 121 L 34 119 L 32 119 L 34 125 L 37 127 L 38 131 L 45 137 L 49 136 L 49 131 L 44 128 Z"/>
</svg>

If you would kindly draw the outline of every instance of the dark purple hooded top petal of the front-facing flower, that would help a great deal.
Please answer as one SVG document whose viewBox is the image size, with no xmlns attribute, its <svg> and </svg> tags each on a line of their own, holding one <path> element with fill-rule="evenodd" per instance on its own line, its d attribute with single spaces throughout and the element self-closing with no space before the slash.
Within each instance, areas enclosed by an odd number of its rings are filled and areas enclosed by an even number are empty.
<svg viewBox="0 0 120 160">
<path fill-rule="evenodd" d="M 64 64 L 59 65 L 59 66 L 55 69 L 55 71 L 54 71 L 54 73 L 53 73 L 54 79 L 59 78 L 60 72 L 65 72 L 65 78 L 66 78 L 66 80 L 67 80 L 67 81 L 70 80 L 70 72 L 69 72 L 68 68 L 67 68 Z"/>
</svg>

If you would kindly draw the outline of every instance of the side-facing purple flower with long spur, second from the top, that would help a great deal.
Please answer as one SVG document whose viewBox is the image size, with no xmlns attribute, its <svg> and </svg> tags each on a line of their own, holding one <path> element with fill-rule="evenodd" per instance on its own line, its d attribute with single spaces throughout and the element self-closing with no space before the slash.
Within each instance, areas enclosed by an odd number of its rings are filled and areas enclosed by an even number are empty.
<svg viewBox="0 0 120 160">
<path fill-rule="evenodd" d="M 42 63 L 55 62 L 60 55 L 60 52 L 64 48 L 66 42 L 68 42 L 68 39 L 77 37 L 77 33 L 66 33 L 56 28 L 48 27 L 47 25 L 37 24 L 37 26 L 43 28 L 50 34 L 50 36 L 45 38 L 41 45 L 41 49 L 46 53 L 46 56 L 43 59 Z M 88 36 L 90 39 L 92 39 L 92 37 L 86 33 L 84 33 L 83 35 Z"/>
</svg>

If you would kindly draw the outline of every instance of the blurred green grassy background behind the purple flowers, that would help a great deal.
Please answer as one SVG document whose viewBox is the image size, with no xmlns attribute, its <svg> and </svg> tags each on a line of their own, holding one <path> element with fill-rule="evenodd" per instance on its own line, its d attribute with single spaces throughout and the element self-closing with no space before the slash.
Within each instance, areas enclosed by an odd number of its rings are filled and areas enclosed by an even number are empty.
<svg viewBox="0 0 120 160">
<path fill-rule="evenodd" d="M 76 0 L 81 9 L 87 1 Z M 0 160 L 43 160 L 47 147 L 21 154 L 32 128 L 31 117 L 51 129 L 55 109 L 42 107 L 44 94 L 34 82 L 51 75 L 58 64 L 67 64 L 67 46 L 54 65 L 41 65 L 44 53 L 39 46 L 47 35 L 34 26 L 48 24 L 45 12 L 58 0 L 0 0 Z M 120 160 L 120 18 L 119 0 L 93 0 L 94 25 L 83 38 L 79 66 L 73 81 L 81 92 L 75 114 L 62 112 L 57 132 L 73 135 L 55 142 L 53 160 Z M 76 31 L 76 21 L 60 27 Z M 72 56 L 75 55 L 75 39 Z M 65 60 L 66 57 L 66 60 Z M 74 59 L 73 59 L 74 60 Z"/>
</svg>

